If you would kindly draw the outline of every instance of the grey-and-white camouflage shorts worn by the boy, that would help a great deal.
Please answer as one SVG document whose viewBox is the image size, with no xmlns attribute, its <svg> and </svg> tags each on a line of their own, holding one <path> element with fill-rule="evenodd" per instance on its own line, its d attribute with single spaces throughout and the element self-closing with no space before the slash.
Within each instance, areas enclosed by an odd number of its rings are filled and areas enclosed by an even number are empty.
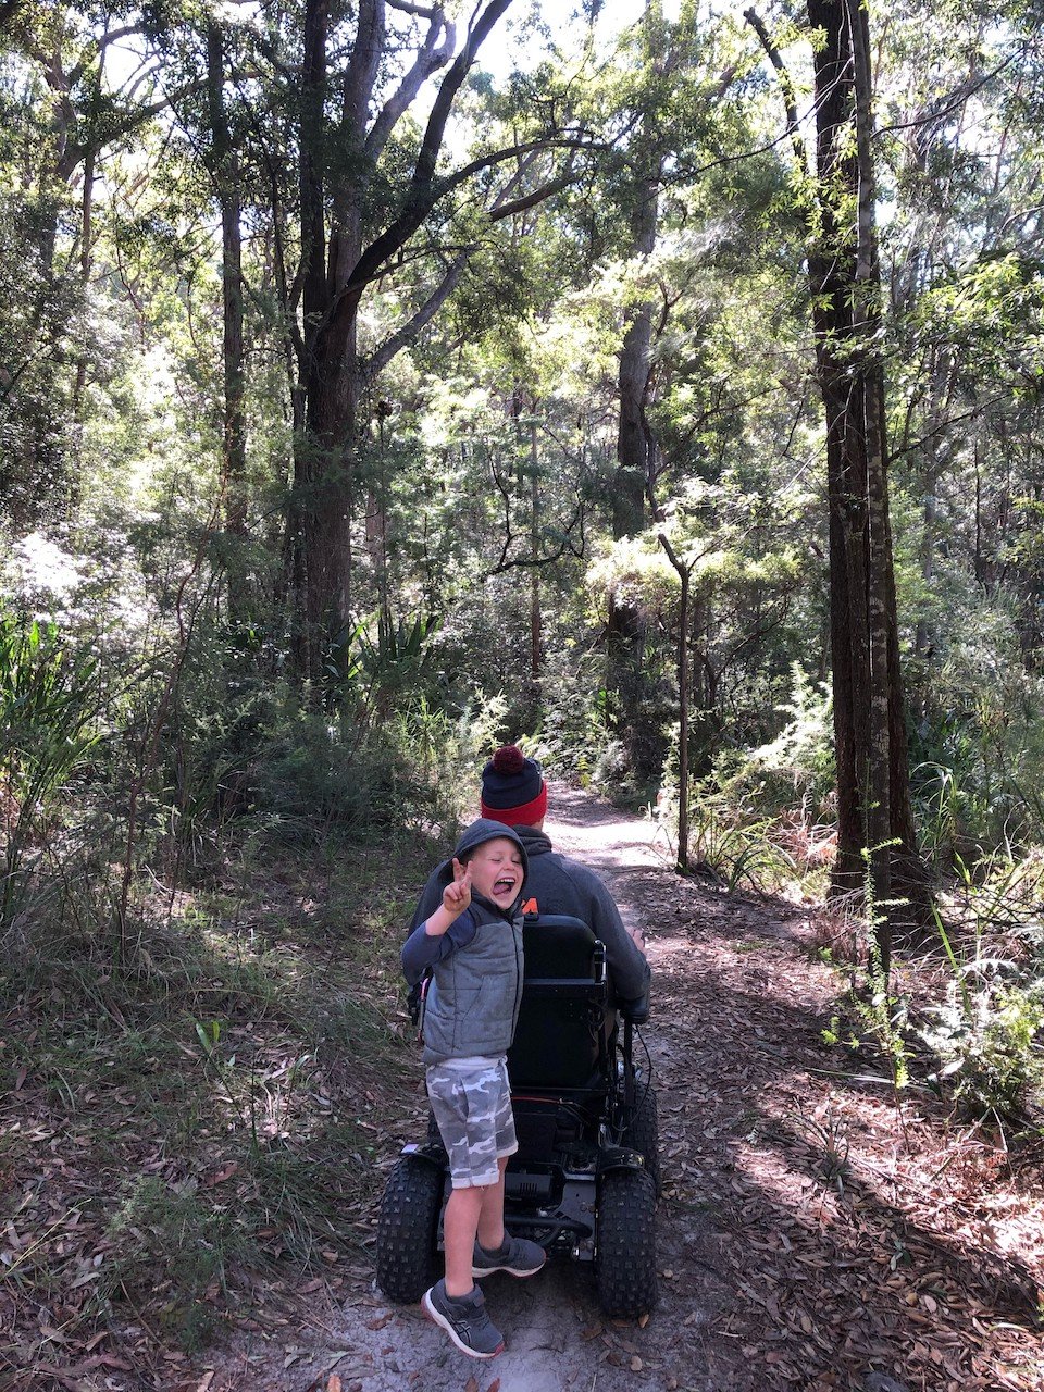
<svg viewBox="0 0 1044 1392">
<path fill-rule="evenodd" d="M 497 1161 L 518 1150 L 504 1059 L 434 1063 L 426 1079 L 454 1189 L 496 1185 Z"/>
</svg>

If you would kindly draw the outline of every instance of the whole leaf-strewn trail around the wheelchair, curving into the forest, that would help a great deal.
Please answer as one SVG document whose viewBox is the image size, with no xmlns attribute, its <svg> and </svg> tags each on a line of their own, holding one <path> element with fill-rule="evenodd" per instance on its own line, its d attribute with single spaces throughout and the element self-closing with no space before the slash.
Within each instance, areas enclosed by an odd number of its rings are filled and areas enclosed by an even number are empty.
<svg viewBox="0 0 1044 1392">
<path fill-rule="evenodd" d="M 75 1359 L 54 1346 L 31 1381 L 0 1374 L 0 1386 L 1044 1388 L 1040 1148 L 1008 1150 L 958 1125 L 924 1089 L 905 1090 L 899 1105 L 870 1041 L 824 1041 L 824 1029 L 838 1012 L 844 1018 L 848 980 L 821 951 L 831 947 L 838 959 L 844 934 L 816 906 L 681 880 L 650 821 L 586 793 L 555 788 L 547 830 L 558 848 L 600 870 L 625 919 L 647 937 L 654 994 L 642 1034 L 664 1175 L 661 1295 L 651 1317 L 604 1320 L 590 1272 L 569 1263 L 525 1282 L 493 1276 L 486 1297 L 507 1349 L 475 1363 L 418 1307 L 391 1306 L 374 1289 L 374 1215 L 365 1203 L 358 1250 L 369 1256 L 347 1263 L 331 1251 L 329 1274 L 320 1263 L 296 1288 L 284 1278 L 278 1297 L 259 1293 L 202 1353 L 178 1352 L 173 1340 L 166 1352 L 153 1347 L 150 1375 L 138 1379 L 134 1356 L 99 1336 Z M 916 991 L 912 963 L 901 977 Z M 404 1104 L 401 1077 L 365 1076 L 366 1115 L 384 1119 L 380 1172 L 404 1141 L 423 1134 L 419 1077 L 418 1062 L 418 1087 Z M 26 1233 L 8 1240 L 17 1251 Z M 168 1378 L 157 1379 L 157 1367 Z"/>
</svg>

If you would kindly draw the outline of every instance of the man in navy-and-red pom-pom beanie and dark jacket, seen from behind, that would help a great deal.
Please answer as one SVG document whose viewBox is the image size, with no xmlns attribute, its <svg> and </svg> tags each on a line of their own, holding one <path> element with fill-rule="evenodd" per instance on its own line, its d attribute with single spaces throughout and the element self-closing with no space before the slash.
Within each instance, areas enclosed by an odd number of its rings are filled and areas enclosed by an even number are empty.
<svg viewBox="0 0 1044 1392">
<path fill-rule="evenodd" d="M 544 832 L 547 784 L 540 766 L 516 745 L 501 745 L 482 771 L 482 816 L 514 827 L 529 862 L 528 913 L 565 913 L 587 923 L 606 944 L 610 980 L 617 995 L 632 1001 L 649 991 L 649 963 L 628 933 L 606 884 L 578 860 L 554 851 Z M 420 894 L 411 928 L 441 903 L 436 871 Z"/>
</svg>

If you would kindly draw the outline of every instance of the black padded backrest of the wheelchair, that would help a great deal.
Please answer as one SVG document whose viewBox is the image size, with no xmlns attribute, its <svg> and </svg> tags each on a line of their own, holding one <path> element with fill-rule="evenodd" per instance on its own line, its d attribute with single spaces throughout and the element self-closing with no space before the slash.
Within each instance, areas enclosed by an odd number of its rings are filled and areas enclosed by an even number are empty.
<svg viewBox="0 0 1044 1392">
<path fill-rule="evenodd" d="M 615 1025 L 606 948 L 580 919 L 540 913 L 522 928 L 525 977 L 511 1086 L 574 1091 L 597 1086 Z"/>
</svg>

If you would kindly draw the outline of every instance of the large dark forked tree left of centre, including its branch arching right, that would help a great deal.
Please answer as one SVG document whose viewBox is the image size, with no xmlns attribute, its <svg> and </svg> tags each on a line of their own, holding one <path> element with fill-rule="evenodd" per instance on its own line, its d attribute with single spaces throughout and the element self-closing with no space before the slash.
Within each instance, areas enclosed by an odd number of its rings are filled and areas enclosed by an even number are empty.
<svg viewBox="0 0 1044 1392">
<path fill-rule="evenodd" d="M 290 555 L 299 667 L 312 677 L 326 638 L 356 608 L 354 529 L 367 393 L 445 303 L 476 227 L 561 188 L 575 177 L 569 152 L 590 145 L 568 97 L 541 99 L 522 86 L 525 100 L 505 111 L 507 139 L 480 138 L 461 149 L 454 117 L 480 100 L 469 74 L 508 6 L 487 0 L 462 10 L 458 24 L 441 4 L 362 0 L 349 11 L 306 0 L 292 32 L 295 56 L 276 63 L 298 93 L 296 107 L 287 107 L 298 260 L 285 284 L 299 423 Z M 494 131 L 493 121 L 484 124 Z M 465 205 L 468 217 L 455 220 Z M 401 287 L 402 312 L 366 341 L 367 301 L 391 285 Z"/>
</svg>

